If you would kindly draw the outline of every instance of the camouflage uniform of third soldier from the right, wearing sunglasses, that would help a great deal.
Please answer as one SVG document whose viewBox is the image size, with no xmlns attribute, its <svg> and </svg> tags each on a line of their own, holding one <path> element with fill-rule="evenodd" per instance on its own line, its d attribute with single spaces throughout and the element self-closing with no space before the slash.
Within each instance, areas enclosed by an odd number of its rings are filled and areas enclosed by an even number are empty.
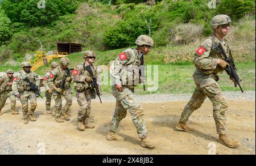
<svg viewBox="0 0 256 166">
<path fill-rule="evenodd" d="M 90 82 L 86 82 L 86 78 L 90 78 L 90 74 L 87 70 L 85 70 L 86 63 L 81 63 L 77 66 L 76 70 L 73 70 L 73 81 L 74 88 L 76 90 L 77 103 L 80 106 L 77 119 L 84 123 L 88 122 L 88 118 L 90 115 L 90 104 L 92 100 L 92 91 L 95 91 L 92 88 Z M 98 77 L 98 73 L 96 70 L 96 66 L 93 64 L 90 66 L 93 71 L 93 76 L 95 78 Z"/>
</svg>

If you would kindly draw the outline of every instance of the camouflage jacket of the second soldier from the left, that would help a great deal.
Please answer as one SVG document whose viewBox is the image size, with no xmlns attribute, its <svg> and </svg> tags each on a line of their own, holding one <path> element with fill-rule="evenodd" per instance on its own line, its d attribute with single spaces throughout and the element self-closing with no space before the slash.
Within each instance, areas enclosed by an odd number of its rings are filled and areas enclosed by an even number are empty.
<svg viewBox="0 0 256 166">
<path fill-rule="evenodd" d="M 14 95 L 18 95 L 19 92 L 30 90 L 30 87 L 28 86 L 29 83 L 24 81 L 25 78 L 30 79 L 30 82 L 35 83 L 36 86 L 39 86 L 40 82 L 36 73 L 34 73 L 33 71 L 30 71 L 30 73 L 26 73 L 24 70 L 21 70 L 13 79 Z"/>
</svg>

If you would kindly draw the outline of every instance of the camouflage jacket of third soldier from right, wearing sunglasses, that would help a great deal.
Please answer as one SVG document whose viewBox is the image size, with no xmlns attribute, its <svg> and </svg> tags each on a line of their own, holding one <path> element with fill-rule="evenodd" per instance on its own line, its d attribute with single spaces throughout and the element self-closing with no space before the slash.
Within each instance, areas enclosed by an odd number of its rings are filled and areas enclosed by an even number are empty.
<svg viewBox="0 0 256 166">
<path fill-rule="evenodd" d="M 90 82 L 86 82 L 86 78 L 92 80 L 89 72 L 85 69 L 88 66 L 86 63 L 80 63 L 76 69 L 73 70 L 72 79 L 74 80 L 74 88 L 76 91 L 84 91 L 86 88 L 92 88 Z M 94 78 L 99 79 L 100 75 L 97 72 L 97 67 L 93 64 L 90 66 L 93 72 Z"/>
</svg>

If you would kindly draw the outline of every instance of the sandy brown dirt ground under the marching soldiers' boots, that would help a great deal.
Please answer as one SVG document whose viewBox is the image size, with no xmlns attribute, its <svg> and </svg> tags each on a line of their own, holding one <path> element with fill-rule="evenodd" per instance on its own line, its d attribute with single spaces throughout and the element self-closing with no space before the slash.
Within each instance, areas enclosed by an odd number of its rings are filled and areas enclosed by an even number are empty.
<svg viewBox="0 0 256 166">
<path fill-rule="evenodd" d="M 54 101 L 53 101 L 54 102 Z M 228 100 L 228 133 L 241 140 L 241 146 L 233 149 L 217 143 L 212 105 L 206 100 L 203 106 L 189 118 L 189 126 L 195 131 L 176 131 L 175 125 L 187 101 L 141 103 L 146 110 L 148 137 L 159 143 L 153 149 L 141 147 L 136 129 L 127 113 L 118 128 L 118 134 L 126 141 L 107 141 L 115 103 L 93 100 L 90 122 L 94 129 L 76 129 L 79 105 L 73 100 L 71 120 L 57 123 L 53 114 L 45 111 L 44 100 L 38 100 L 36 121 L 23 124 L 20 101 L 18 115 L 12 115 L 7 100 L 0 116 L 1 154 L 255 154 L 255 100 Z M 53 108 L 52 108 L 53 109 Z"/>
</svg>

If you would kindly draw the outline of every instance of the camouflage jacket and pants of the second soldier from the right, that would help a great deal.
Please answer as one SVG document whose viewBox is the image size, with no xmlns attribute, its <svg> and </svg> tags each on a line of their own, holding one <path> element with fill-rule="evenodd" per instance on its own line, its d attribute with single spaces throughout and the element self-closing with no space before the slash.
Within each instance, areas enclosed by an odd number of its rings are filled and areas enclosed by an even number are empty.
<svg viewBox="0 0 256 166">
<path fill-rule="evenodd" d="M 122 84 L 123 92 L 112 86 L 112 94 L 115 97 L 115 113 L 110 125 L 110 131 L 116 132 L 119 122 L 126 117 L 126 112 L 131 114 L 134 126 L 137 128 L 139 138 L 147 137 L 144 110 L 136 101 L 133 94 L 134 87 L 141 83 L 141 75 L 138 74 L 141 58 L 137 49 L 127 49 L 119 54 L 112 65 L 111 77 L 113 84 Z M 133 69 L 133 70 L 132 70 Z"/>
</svg>

